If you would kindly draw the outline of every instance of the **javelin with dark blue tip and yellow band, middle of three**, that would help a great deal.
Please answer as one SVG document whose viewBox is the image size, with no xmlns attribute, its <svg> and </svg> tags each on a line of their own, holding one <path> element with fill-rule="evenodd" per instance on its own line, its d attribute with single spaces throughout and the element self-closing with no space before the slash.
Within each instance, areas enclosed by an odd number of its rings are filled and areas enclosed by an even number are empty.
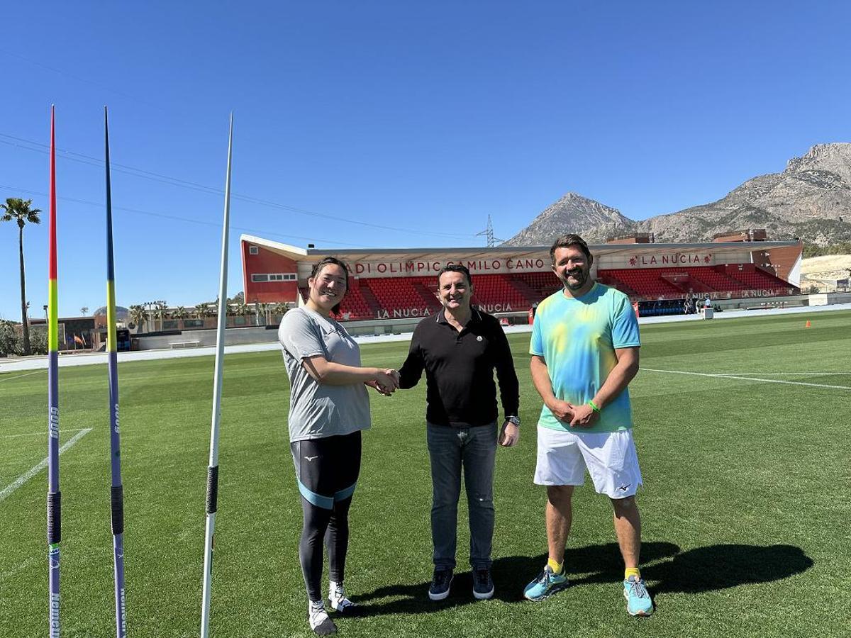
<svg viewBox="0 0 851 638">
<path fill-rule="evenodd" d="M 121 483 L 121 438 L 118 430 L 118 355 L 115 329 L 115 262 L 112 257 L 112 187 L 109 174 L 109 117 L 104 106 L 106 144 L 106 338 L 109 366 L 109 430 L 112 470 L 112 551 L 115 564 L 115 635 L 127 636 L 124 607 L 124 487 Z"/>
</svg>

